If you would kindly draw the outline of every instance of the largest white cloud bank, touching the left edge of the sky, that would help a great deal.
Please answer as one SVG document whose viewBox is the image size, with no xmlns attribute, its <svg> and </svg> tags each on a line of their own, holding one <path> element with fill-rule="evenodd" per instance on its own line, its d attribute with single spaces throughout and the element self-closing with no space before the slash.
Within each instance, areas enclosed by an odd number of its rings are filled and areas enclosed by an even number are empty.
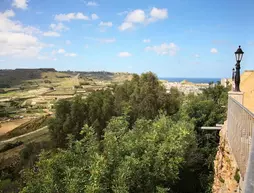
<svg viewBox="0 0 254 193">
<path fill-rule="evenodd" d="M 39 41 L 36 35 L 42 32 L 33 26 L 24 26 L 14 21 L 13 10 L 0 12 L 0 55 L 17 57 L 38 57 L 49 45 Z"/>
</svg>

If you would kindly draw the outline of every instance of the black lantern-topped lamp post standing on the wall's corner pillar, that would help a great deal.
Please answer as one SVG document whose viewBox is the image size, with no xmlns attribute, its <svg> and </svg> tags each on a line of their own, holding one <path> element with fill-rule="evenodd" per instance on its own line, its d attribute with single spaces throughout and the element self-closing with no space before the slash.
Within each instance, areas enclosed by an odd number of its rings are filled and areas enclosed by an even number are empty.
<svg viewBox="0 0 254 193">
<path fill-rule="evenodd" d="M 240 63 L 243 58 L 244 52 L 241 49 L 241 46 L 236 50 L 235 52 L 235 59 L 236 59 L 236 65 L 235 65 L 235 91 L 240 92 Z"/>
</svg>

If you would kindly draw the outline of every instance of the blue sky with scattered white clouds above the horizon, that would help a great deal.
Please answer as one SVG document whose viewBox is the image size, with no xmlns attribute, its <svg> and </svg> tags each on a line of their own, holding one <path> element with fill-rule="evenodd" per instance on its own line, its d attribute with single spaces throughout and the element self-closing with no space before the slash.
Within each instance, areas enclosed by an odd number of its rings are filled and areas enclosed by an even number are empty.
<svg viewBox="0 0 254 193">
<path fill-rule="evenodd" d="M 254 0 L 0 0 L 0 69 L 159 77 L 254 69 Z"/>
</svg>

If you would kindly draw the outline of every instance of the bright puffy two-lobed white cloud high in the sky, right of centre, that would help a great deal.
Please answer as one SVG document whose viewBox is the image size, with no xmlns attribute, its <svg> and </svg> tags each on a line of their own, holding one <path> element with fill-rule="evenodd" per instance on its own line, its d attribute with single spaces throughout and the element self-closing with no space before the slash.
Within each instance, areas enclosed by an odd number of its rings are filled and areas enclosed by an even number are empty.
<svg viewBox="0 0 254 193">
<path fill-rule="evenodd" d="M 119 26 L 120 31 L 125 31 L 134 27 L 134 24 L 149 24 L 158 20 L 164 20 L 168 18 L 167 9 L 159 9 L 153 7 L 149 13 L 145 13 L 144 10 L 136 9 L 128 12 L 123 23 Z"/>
</svg>

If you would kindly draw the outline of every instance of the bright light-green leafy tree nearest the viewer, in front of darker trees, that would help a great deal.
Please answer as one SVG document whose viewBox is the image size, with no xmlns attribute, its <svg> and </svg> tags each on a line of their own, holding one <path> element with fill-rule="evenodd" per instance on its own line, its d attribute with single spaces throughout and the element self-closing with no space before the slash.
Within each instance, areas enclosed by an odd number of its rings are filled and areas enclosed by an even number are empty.
<svg viewBox="0 0 254 193">
<path fill-rule="evenodd" d="M 139 119 L 129 129 L 127 120 L 112 118 L 101 142 L 94 129 L 85 126 L 84 138 L 69 143 L 67 150 L 43 153 L 36 170 L 26 171 L 22 193 L 172 192 L 195 146 L 193 126 L 160 116 L 155 121 Z"/>
</svg>

